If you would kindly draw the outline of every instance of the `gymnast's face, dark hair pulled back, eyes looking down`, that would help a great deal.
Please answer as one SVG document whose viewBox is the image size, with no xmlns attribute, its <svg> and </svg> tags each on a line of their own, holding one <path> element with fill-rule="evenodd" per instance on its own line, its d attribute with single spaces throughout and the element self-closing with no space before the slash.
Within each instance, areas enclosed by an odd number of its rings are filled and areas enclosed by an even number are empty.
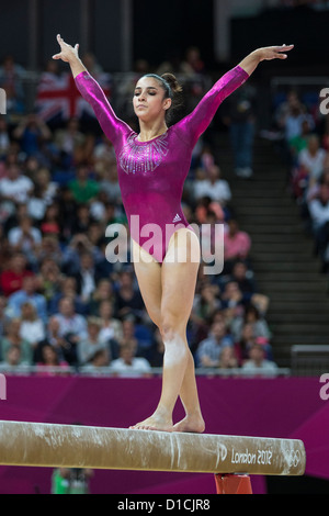
<svg viewBox="0 0 329 516">
<path fill-rule="evenodd" d="M 164 117 L 171 99 L 164 99 L 164 90 L 157 79 L 141 77 L 135 88 L 133 104 L 139 120 L 151 122 Z"/>
</svg>

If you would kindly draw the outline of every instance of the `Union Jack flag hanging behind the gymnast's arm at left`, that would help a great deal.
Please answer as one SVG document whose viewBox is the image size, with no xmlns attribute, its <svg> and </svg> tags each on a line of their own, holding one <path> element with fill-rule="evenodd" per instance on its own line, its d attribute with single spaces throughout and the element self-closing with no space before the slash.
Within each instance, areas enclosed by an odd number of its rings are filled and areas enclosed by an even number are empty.
<svg viewBox="0 0 329 516">
<path fill-rule="evenodd" d="M 94 79 L 110 98 L 111 76 L 102 72 L 94 76 Z M 83 113 L 94 116 L 92 108 L 78 91 L 72 75 L 66 72 L 60 76 L 48 71 L 42 74 L 35 106 L 45 122 L 49 122 L 55 116 L 61 116 L 63 120 L 69 120 L 72 116 L 81 117 Z"/>
</svg>

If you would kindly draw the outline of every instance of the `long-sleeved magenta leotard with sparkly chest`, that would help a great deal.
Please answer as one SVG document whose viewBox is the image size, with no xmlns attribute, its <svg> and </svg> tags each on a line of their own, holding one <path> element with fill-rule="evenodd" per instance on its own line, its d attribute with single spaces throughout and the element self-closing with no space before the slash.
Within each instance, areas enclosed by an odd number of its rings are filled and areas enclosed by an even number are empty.
<svg viewBox="0 0 329 516">
<path fill-rule="evenodd" d="M 213 86 L 192 113 L 149 142 L 139 142 L 137 133 L 115 115 L 88 71 L 76 77 L 77 88 L 114 146 L 131 237 L 160 263 L 170 236 L 180 227 L 193 231 L 181 206 L 192 150 L 219 104 L 248 77 L 247 71 L 236 66 Z"/>
</svg>

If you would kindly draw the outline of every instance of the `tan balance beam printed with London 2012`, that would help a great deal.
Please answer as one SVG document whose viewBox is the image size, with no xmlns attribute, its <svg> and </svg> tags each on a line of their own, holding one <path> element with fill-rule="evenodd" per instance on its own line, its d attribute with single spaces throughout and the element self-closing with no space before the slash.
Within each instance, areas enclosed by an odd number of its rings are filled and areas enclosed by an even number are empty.
<svg viewBox="0 0 329 516">
<path fill-rule="evenodd" d="M 302 475 L 300 440 L 0 422 L 0 464 Z"/>
</svg>

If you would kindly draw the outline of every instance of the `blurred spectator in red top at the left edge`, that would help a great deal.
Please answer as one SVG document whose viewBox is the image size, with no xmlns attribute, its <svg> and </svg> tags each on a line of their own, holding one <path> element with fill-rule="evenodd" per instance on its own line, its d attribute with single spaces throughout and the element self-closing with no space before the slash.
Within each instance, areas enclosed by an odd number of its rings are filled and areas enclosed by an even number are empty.
<svg viewBox="0 0 329 516">
<path fill-rule="evenodd" d="M 15 253 L 10 259 L 8 269 L 0 274 L 0 288 L 5 295 L 10 296 L 23 287 L 23 280 L 33 277 L 34 273 L 27 269 L 27 260 L 23 253 Z"/>
</svg>

